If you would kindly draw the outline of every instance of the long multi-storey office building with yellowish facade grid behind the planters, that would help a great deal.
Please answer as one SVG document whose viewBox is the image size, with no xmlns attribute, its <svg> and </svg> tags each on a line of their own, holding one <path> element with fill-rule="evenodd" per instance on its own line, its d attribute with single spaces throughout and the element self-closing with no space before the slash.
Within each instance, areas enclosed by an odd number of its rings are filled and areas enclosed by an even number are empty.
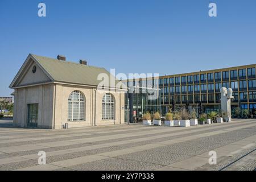
<svg viewBox="0 0 256 182">
<path fill-rule="evenodd" d="M 220 88 L 232 88 L 234 99 L 232 100 L 232 109 L 241 107 L 241 109 L 256 108 L 256 77 L 255 66 L 244 65 L 240 67 L 214 69 L 209 71 L 199 71 L 192 73 L 183 73 L 177 75 L 160 76 L 158 86 L 159 100 L 154 102 L 161 107 L 162 114 L 168 110 L 179 106 L 197 107 L 199 103 L 203 105 L 203 112 L 220 109 Z M 145 79 L 128 80 L 126 84 L 141 86 L 143 82 L 149 82 Z M 142 107 L 142 94 L 134 94 L 137 98 L 133 102 L 134 109 L 139 110 Z M 146 98 L 145 98 L 146 101 Z M 147 104 L 147 101 L 144 102 Z M 127 102 L 126 102 L 127 105 Z M 155 111 L 154 105 L 144 106 L 144 112 Z M 144 113 L 143 112 L 143 113 Z M 138 111 L 137 111 L 138 113 Z"/>
</svg>

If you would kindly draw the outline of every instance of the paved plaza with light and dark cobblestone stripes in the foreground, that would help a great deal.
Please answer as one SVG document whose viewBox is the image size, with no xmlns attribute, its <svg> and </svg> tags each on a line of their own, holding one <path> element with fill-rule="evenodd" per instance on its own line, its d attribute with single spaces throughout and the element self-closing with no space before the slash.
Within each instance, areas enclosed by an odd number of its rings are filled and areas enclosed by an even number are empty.
<svg viewBox="0 0 256 182">
<path fill-rule="evenodd" d="M 0 170 L 254 170 L 255 142 L 255 119 L 68 130 L 16 129 L 0 121 Z M 46 152 L 46 165 L 38 164 L 39 151 Z M 209 151 L 216 151 L 216 165 L 209 164 Z"/>
</svg>

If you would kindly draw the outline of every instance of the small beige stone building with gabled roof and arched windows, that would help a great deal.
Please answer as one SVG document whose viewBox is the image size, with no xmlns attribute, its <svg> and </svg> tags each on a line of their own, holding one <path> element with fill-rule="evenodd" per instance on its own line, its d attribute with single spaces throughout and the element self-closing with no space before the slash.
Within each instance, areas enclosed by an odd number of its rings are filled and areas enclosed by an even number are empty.
<svg viewBox="0 0 256 182">
<path fill-rule="evenodd" d="M 28 55 L 10 85 L 15 90 L 14 125 L 63 129 L 67 123 L 69 128 L 124 123 L 125 90 L 98 89 L 102 73 L 113 77 L 83 60 Z"/>
</svg>

